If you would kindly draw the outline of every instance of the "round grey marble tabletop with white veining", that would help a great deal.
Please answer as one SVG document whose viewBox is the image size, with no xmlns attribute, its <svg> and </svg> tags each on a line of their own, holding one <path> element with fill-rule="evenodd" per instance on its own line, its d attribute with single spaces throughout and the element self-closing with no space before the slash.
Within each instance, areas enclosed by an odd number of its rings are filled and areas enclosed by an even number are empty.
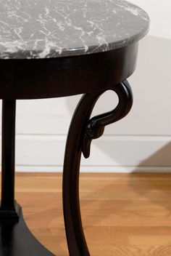
<svg viewBox="0 0 171 256">
<path fill-rule="evenodd" d="M 86 55 L 124 47 L 149 30 L 122 0 L 1 0 L 0 59 Z"/>
</svg>

